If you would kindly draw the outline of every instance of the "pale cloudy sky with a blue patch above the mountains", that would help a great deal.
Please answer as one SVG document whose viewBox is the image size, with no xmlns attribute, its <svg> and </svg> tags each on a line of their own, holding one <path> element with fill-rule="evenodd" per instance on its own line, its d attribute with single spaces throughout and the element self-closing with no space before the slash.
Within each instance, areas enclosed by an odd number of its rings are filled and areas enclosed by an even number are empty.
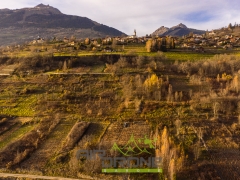
<svg viewBox="0 0 240 180">
<path fill-rule="evenodd" d="M 179 23 L 189 28 L 212 30 L 240 24 L 239 0 L 7 0 L 0 9 L 34 7 L 40 3 L 62 13 L 88 17 L 128 35 L 151 34 L 161 26 Z"/>
</svg>

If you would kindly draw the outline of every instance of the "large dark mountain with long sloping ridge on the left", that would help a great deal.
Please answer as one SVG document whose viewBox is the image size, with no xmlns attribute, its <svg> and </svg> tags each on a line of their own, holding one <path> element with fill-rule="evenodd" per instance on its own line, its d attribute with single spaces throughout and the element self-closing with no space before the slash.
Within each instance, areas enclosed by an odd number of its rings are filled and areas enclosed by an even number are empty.
<svg viewBox="0 0 240 180">
<path fill-rule="evenodd" d="M 33 8 L 0 9 L 0 45 L 24 42 L 37 36 L 62 38 L 71 35 L 93 38 L 126 34 L 87 17 L 63 14 L 44 4 Z"/>
</svg>

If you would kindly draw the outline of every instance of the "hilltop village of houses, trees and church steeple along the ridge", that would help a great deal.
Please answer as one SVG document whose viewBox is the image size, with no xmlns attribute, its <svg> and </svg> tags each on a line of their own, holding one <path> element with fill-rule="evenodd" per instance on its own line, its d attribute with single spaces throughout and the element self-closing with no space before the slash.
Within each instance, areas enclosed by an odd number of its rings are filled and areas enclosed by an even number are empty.
<svg viewBox="0 0 240 180">
<path fill-rule="evenodd" d="M 146 35 L 138 37 L 136 30 L 133 35 L 122 37 L 105 37 L 105 38 L 85 38 L 77 39 L 71 37 L 52 37 L 44 39 L 40 36 L 30 42 L 22 45 L 12 45 L 2 47 L 0 54 L 4 52 L 30 51 L 30 52 L 124 52 L 128 45 L 136 47 L 145 47 L 147 52 L 168 51 L 170 49 L 179 49 L 182 51 L 205 52 L 206 49 L 233 50 L 240 47 L 240 26 L 229 25 L 226 28 L 206 31 L 204 34 L 189 33 L 181 37 L 168 35 Z"/>
</svg>

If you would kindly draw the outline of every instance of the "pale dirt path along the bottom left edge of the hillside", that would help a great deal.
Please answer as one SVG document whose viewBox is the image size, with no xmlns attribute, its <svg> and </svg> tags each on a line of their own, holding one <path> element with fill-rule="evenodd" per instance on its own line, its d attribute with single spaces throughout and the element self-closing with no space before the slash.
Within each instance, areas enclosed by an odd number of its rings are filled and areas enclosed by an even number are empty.
<svg viewBox="0 0 240 180">
<path fill-rule="evenodd" d="M 30 174 L 10 174 L 10 173 L 0 173 L 0 177 L 4 178 L 30 178 L 30 179 L 59 179 L 59 180 L 77 180 L 73 178 L 62 178 L 62 177 L 52 177 L 52 176 L 39 176 L 39 175 L 30 175 Z M 83 180 L 83 179 L 78 179 Z"/>
</svg>

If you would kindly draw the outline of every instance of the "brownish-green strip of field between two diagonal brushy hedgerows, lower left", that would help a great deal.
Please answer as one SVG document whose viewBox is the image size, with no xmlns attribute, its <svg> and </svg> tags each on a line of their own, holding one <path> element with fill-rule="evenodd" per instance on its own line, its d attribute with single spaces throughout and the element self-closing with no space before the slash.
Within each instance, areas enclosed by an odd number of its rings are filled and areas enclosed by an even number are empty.
<svg viewBox="0 0 240 180">
<path fill-rule="evenodd" d="M 21 163 L 21 168 L 42 170 L 48 160 L 59 150 L 62 140 L 66 138 L 75 121 L 61 120 L 49 138 L 30 156 L 29 159 Z"/>
</svg>

